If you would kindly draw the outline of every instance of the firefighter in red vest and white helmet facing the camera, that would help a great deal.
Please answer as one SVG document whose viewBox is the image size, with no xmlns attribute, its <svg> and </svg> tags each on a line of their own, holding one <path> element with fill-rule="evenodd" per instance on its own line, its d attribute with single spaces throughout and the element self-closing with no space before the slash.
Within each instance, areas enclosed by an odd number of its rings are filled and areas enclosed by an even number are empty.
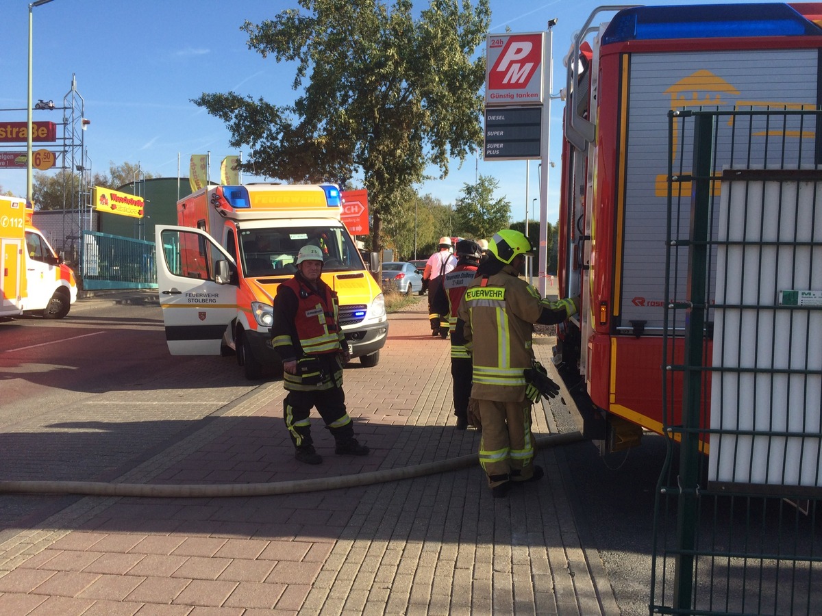
<svg viewBox="0 0 822 616">
<path fill-rule="evenodd" d="M 308 416 L 320 413 L 335 439 L 335 453 L 365 456 L 368 448 L 354 438 L 353 423 L 345 410 L 343 362 L 349 345 L 339 329 L 339 303 L 320 276 L 322 251 L 303 246 L 297 255 L 297 274 L 281 283 L 274 302 L 271 343 L 283 361 L 283 383 L 289 392 L 283 402 L 285 427 L 297 448 L 295 457 L 320 464 L 311 437 Z"/>
</svg>

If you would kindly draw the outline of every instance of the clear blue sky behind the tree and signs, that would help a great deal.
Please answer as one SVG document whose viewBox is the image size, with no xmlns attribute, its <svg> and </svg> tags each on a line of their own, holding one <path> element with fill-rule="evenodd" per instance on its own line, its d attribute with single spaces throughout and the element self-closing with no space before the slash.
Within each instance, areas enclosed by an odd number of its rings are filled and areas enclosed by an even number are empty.
<svg viewBox="0 0 822 616">
<path fill-rule="evenodd" d="M 427 3 L 416 4 L 423 7 Z M 556 94 L 565 84 L 562 57 L 572 35 L 602 4 L 594 0 L 491 0 L 489 33 L 505 32 L 506 27 L 515 33 L 545 30 L 547 21 L 556 17 Z M 71 90 L 72 75 L 76 77 L 85 117 L 91 122 L 85 131 L 85 148 L 94 172 L 108 172 L 111 163 L 129 162 L 140 163 L 155 176 L 177 177 L 179 160 L 180 174 L 187 177 L 190 155 L 210 152 L 211 179 L 219 182 L 219 161 L 238 152 L 229 149 L 224 123 L 190 99 L 203 92 L 233 90 L 275 104 L 293 101 L 293 66 L 248 50 L 246 34 L 239 28 L 246 20 L 259 23 L 297 6 L 294 0 L 53 0 L 34 8 L 33 99 L 35 103 L 51 99 L 62 106 Z M 3 2 L 0 109 L 25 108 L 28 7 L 27 0 Z M 478 53 L 485 53 L 484 45 Z M 561 102 L 554 101 L 549 151 L 556 168 L 548 178 L 551 222 L 558 212 L 561 113 Z M 35 111 L 34 119 L 60 122 L 62 113 Z M 8 121 L 25 122 L 25 111 L 0 110 L 0 122 Z M 446 179 L 426 182 L 420 191 L 453 203 L 464 184 L 473 183 L 477 174 L 492 176 L 499 182 L 496 195 L 506 196 L 512 204 L 512 220 L 523 220 L 526 204 L 539 195 L 537 165 L 536 161 L 484 162 L 479 158 L 467 159 L 460 168 L 455 161 Z M 0 186 L 24 195 L 25 169 L 0 168 Z"/>
</svg>

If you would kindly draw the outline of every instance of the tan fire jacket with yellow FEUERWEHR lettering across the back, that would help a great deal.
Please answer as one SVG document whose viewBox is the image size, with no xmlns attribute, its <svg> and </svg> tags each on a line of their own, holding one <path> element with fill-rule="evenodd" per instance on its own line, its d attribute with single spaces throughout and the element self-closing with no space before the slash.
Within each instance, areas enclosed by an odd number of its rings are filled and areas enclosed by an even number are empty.
<svg viewBox="0 0 822 616">
<path fill-rule="evenodd" d="M 548 301 L 517 277 L 510 265 L 474 278 L 457 311 L 456 342 L 473 360 L 471 396 L 518 402 L 525 396 L 523 371 L 533 360 L 533 324 L 561 323 L 575 314 L 570 299 Z"/>
</svg>

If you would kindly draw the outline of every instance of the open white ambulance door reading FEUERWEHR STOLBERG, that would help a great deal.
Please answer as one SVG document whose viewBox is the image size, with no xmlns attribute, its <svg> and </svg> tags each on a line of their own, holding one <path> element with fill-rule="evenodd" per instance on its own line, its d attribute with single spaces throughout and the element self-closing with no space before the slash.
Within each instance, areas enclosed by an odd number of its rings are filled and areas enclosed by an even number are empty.
<svg viewBox="0 0 822 616">
<path fill-rule="evenodd" d="M 237 316 L 234 259 L 208 233 L 158 225 L 157 284 L 172 355 L 219 355 Z"/>
</svg>

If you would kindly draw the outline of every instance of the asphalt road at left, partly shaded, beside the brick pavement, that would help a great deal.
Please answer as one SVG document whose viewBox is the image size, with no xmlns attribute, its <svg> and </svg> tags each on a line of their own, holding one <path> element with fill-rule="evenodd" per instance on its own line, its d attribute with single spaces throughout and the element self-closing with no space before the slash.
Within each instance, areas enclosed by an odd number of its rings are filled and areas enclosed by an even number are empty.
<svg viewBox="0 0 822 616">
<path fill-rule="evenodd" d="M 169 355 L 156 293 L 77 301 L 65 319 L 0 322 L 0 475 L 122 475 L 263 383 L 230 357 Z M 76 501 L 0 495 L 0 540 Z"/>
</svg>

